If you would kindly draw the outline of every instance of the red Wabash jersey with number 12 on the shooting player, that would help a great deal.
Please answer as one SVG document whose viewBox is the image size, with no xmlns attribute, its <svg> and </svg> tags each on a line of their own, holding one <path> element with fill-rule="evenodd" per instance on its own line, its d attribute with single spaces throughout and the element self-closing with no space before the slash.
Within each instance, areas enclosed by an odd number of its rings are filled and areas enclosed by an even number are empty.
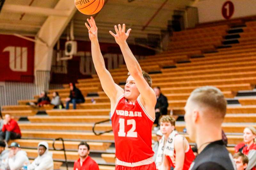
<svg viewBox="0 0 256 170">
<path fill-rule="evenodd" d="M 138 162 L 154 155 L 152 150 L 152 119 L 140 103 L 128 103 L 124 95 L 116 102 L 111 117 L 115 138 L 116 158 L 124 162 Z"/>
</svg>

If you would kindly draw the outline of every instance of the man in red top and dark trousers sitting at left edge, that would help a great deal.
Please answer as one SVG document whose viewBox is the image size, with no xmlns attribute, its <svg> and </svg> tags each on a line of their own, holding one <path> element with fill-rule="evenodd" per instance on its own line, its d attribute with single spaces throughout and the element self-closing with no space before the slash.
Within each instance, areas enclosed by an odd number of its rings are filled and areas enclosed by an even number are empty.
<svg viewBox="0 0 256 170">
<path fill-rule="evenodd" d="M 9 142 L 10 139 L 20 139 L 21 132 L 18 123 L 11 118 L 10 115 L 5 115 L 4 126 L 0 132 L 0 139 Z"/>
</svg>

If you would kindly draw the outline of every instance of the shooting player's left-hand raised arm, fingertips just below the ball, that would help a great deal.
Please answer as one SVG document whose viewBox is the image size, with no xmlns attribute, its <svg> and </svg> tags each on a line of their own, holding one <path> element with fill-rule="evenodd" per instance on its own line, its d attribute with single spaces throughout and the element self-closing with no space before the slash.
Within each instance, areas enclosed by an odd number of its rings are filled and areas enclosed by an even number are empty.
<svg viewBox="0 0 256 170">
<path fill-rule="evenodd" d="M 116 98 L 124 93 L 124 90 L 114 82 L 112 76 L 105 67 L 105 62 L 101 54 L 98 41 L 98 28 L 93 17 L 87 19 L 87 22 L 90 26 L 87 23 L 85 23 L 85 26 L 89 30 L 89 38 L 92 44 L 92 61 L 95 70 L 100 78 L 103 91 L 107 94 L 111 102 L 115 102 Z"/>
</svg>

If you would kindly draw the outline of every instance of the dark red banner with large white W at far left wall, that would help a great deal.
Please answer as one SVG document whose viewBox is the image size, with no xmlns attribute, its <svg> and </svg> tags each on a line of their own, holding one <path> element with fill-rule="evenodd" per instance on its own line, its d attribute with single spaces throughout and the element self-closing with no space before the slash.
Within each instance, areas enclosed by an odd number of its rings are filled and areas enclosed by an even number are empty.
<svg viewBox="0 0 256 170">
<path fill-rule="evenodd" d="M 34 42 L 0 34 L 0 81 L 33 82 Z"/>
</svg>

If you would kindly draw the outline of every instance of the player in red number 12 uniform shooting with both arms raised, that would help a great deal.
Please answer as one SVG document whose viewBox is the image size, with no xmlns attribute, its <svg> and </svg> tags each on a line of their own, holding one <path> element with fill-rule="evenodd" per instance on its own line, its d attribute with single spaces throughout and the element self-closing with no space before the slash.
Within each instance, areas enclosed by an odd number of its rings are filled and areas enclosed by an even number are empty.
<svg viewBox="0 0 256 170">
<path fill-rule="evenodd" d="M 151 130 L 155 120 L 156 95 L 151 88 L 150 76 L 140 65 L 126 43 L 131 29 L 125 32 L 125 25 L 115 26 L 116 43 L 124 56 L 129 77 L 124 89 L 115 84 L 105 67 L 100 52 L 94 19 L 85 23 L 92 44 L 92 60 L 100 79 L 102 89 L 111 102 L 112 129 L 116 147 L 116 170 L 155 170 Z"/>
</svg>

